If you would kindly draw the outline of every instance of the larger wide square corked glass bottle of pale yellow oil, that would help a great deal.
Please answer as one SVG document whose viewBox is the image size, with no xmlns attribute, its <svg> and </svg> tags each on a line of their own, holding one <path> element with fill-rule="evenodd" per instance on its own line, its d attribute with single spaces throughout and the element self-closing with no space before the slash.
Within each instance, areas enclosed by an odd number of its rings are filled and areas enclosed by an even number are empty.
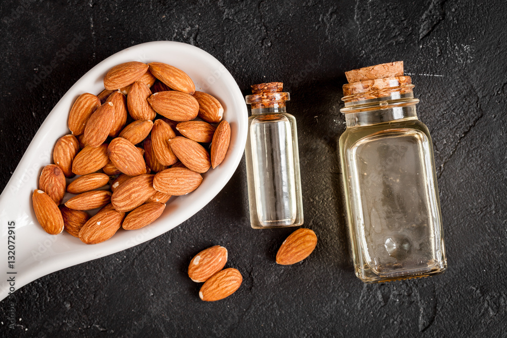
<svg viewBox="0 0 507 338">
<path fill-rule="evenodd" d="M 355 274 L 376 283 L 442 273 L 433 146 L 403 62 L 345 74 L 340 157 Z"/>
</svg>

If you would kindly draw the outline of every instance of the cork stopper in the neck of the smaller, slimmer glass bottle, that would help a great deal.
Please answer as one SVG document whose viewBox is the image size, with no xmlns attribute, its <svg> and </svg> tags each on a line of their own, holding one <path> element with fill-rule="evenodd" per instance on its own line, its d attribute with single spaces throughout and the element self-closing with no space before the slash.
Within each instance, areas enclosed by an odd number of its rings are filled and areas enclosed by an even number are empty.
<svg viewBox="0 0 507 338">
<path fill-rule="evenodd" d="M 261 83 L 251 85 L 252 95 L 245 97 L 246 103 L 252 109 L 285 107 L 285 101 L 290 100 L 289 93 L 282 92 L 283 82 Z"/>
</svg>

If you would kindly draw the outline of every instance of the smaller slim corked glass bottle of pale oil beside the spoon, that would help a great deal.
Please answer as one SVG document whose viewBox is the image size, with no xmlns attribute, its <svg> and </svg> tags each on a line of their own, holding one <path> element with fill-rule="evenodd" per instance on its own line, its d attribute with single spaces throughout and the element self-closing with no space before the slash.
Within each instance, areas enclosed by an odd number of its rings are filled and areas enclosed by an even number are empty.
<svg viewBox="0 0 507 338">
<path fill-rule="evenodd" d="M 246 139 L 246 175 L 253 229 L 303 224 L 296 119 L 287 114 L 283 83 L 253 85 Z"/>
</svg>

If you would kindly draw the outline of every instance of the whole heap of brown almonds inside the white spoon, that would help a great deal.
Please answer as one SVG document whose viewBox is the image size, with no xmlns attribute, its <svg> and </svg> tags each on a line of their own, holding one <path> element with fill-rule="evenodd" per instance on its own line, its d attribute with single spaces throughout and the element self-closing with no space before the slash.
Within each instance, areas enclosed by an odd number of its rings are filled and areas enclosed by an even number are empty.
<svg viewBox="0 0 507 338">
<path fill-rule="evenodd" d="M 171 65 L 119 64 L 104 88 L 74 102 L 71 134 L 56 142 L 54 164 L 44 167 L 32 196 L 47 233 L 65 229 L 87 244 L 153 222 L 171 196 L 197 189 L 201 174 L 224 160 L 231 138 L 222 104 Z M 60 205 L 65 192 L 75 196 Z"/>
</svg>

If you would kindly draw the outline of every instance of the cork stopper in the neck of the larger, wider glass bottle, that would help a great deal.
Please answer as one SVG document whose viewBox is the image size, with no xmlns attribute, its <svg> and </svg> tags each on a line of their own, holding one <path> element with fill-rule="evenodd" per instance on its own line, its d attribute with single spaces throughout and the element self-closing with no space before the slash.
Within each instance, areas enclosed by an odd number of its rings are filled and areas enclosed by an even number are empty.
<svg viewBox="0 0 507 338">
<path fill-rule="evenodd" d="M 343 101 L 352 102 L 412 92 L 412 80 L 403 75 L 403 61 L 377 64 L 345 72 Z"/>
</svg>

